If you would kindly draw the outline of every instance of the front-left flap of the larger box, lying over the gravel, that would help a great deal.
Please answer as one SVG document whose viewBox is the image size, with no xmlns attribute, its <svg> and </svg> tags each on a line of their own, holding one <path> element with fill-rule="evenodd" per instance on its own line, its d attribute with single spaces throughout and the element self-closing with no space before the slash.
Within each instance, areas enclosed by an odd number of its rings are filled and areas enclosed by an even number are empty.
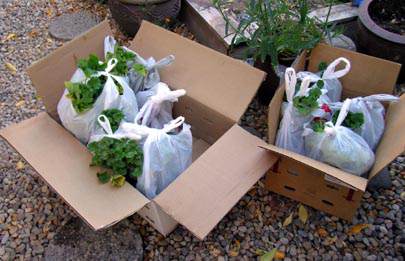
<svg viewBox="0 0 405 261">
<path fill-rule="evenodd" d="M 45 112 L 0 135 L 93 229 L 110 226 L 148 203 L 128 183 L 121 188 L 100 184 L 86 147 Z"/>
</svg>

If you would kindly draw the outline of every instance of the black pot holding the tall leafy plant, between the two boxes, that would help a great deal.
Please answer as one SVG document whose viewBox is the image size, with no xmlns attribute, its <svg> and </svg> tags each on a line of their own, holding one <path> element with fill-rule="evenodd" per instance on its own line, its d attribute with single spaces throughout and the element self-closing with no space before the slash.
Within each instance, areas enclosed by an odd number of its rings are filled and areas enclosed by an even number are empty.
<svg viewBox="0 0 405 261">
<path fill-rule="evenodd" d="M 281 65 L 286 67 L 291 66 L 295 57 L 280 57 L 279 62 Z M 279 84 L 280 78 L 274 71 L 273 65 L 271 64 L 271 59 L 268 58 L 264 62 L 260 59 L 257 60 L 254 66 L 267 73 L 266 79 L 262 82 L 257 91 L 257 98 L 262 105 L 269 105 L 271 98 L 273 98 Z"/>
</svg>

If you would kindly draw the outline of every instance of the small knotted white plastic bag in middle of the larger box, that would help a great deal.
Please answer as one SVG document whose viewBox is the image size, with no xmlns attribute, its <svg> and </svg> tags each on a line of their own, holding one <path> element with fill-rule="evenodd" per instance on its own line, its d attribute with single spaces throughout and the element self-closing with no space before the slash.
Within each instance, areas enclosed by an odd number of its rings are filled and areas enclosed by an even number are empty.
<svg viewBox="0 0 405 261">
<path fill-rule="evenodd" d="M 157 93 L 142 106 L 135 117 L 135 122 L 150 128 L 163 128 L 173 120 L 173 102 L 177 102 L 178 98 L 185 94 L 186 91 L 183 89 L 171 91 L 167 84 L 158 83 Z"/>
</svg>

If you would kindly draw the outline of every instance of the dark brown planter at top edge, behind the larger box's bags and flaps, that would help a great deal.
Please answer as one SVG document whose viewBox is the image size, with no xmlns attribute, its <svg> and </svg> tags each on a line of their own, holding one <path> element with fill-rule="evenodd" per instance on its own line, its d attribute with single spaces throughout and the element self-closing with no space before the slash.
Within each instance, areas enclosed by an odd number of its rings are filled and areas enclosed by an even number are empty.
<svg viewBox="0 0 405 261">
<path fill-rule="evenodd" d="M 162 3 L 134 5 L 120 0 L 109 0 L 112 17 L 129 36 L 138 32 L 142 20 L 159 23 L 166 18 L 174 19 L 181 9 L 181 0 L 167 0 Z"/>
</svg>

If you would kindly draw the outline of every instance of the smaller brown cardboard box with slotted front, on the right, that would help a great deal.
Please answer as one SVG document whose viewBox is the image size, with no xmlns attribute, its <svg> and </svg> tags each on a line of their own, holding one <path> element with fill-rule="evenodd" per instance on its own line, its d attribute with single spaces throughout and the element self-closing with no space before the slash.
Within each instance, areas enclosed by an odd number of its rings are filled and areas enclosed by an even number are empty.
<svg viewBox="0 0 405 261">
<path fill-rule="evenodd" d="M 312 50 L 307 69 L 306 53 L 297 58 L 293 67 L 296 71 L 305 69 L 314 72 L 319 62 L 329 63 L 341 56 L 348 58 L 352 66 L 351 71 L 341 79 L 344 98 L 392 93 L 401 65 L 356 52 L 320 44 Z M 270 144 L 275 142 L 284 92 L 282 85 L 269 106 Z M 405 95 L 401 97 L 400 102 L 390 104 L 387 109 L 386 130 L 376 151 L 376 162 L 369 179 L 404 152 L 404 116 Z M 266 148 L 279 157 L 266 175 L 266 184 L 270 190 L 351 220 L 360 204 L 368 179 L 274 145 L 267 145 Z"/>
</svg>

